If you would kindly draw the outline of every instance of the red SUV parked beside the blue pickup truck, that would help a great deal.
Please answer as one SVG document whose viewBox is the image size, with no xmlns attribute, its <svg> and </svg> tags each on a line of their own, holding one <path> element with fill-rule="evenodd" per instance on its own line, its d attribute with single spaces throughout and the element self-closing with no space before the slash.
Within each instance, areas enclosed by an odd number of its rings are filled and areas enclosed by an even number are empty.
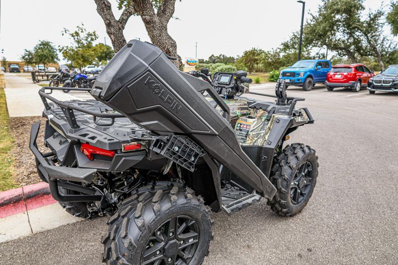
<svg viewBox="0 0 398 265">
<path fill-rule="evenodd" d="M 326 88 L 332 91 L 333 88 L 351 88 L 358 92 L 366 87 L 371 77 L 375 76 L 374 71 L 363 64 L 335 65 L 326 76 Z"/>
</svg>

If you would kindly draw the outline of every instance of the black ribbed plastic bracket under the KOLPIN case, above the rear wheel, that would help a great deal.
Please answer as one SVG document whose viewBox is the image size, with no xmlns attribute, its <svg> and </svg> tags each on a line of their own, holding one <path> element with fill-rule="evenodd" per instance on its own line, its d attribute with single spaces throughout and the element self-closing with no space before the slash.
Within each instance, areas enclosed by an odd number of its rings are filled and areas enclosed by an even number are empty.
<svg viewBox="0 0 398 265">
<path fill-rule="evenodd" d="M 206 154 L 199 145 L 183 135 L 172 135 L 166 142 L 158 138 L 151 149 L 191 172 L 194 172 L 198 158 Z"/>
</svg>

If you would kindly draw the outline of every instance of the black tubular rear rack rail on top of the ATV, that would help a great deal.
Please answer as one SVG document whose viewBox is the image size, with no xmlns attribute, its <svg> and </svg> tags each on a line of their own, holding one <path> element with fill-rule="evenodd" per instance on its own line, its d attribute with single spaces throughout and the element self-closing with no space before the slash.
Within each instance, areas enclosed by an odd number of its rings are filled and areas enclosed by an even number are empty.
<svg viewBox="0 0 398 265">
<path fill-rule="evenodd" d="M 46 89 L 50 89 L 50 92 L 46 93 L 45 92 Z M 68 103 L 68 102 L 60 101 L 60 100 L 50 96 L 50 94 L 53 92 L 53 90 L 63 90 L 63 89 L 65 89 L 65 88 L 43 87 L 43 88 L 40 88 L 39 95 L 41 97 L 41 100 L 43 101 L 44 107 L 47 110 L 51 109 L 50 105 L 47 102 L 47 99 L 54 102 L 56 105 L 58 105 L 61 108 L 62 112 L 64 113 L 69 125 L 73 129 L 80 128 L 80 126 L 76 122 L 74 110 L 92 115 L 94 117 L 94 123 L 97 125 L 100 125 L 100 126 L 111 126 L 115 122 L 115 118 L 125 118 L 122 114 L 103 113 L 100 111 L 92 111 L 92 110 L 85 109 L 85 108 L 76 106 L 74 104 Z M 91 88 L 68 88 L 68 90 L 90 92 Z M 111 121 L 109 123 L 101 123 L 101 122 L 97 121 L 97 118 L 109 118 L 109 119 L 111 119 Z"/>
</svg>

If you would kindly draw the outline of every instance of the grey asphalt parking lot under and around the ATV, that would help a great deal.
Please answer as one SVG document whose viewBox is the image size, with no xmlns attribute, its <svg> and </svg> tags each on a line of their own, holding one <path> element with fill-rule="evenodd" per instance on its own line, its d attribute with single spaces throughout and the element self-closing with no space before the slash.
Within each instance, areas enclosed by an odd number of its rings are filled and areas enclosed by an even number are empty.
<svg viewBox="0 0 398 265">
<path fill-rule="evenodd" d="M 265 200 L 232 216 L 212 214 L 214 240 L 204 264 L 398 264 L 398 93 L 316 86 L 289 88 L 288 95 L 305 97 L 298 106 L 315 118 L 289 140 L 319 157 L 312 198 L 290 218 L 274 214 Z M 105 222 L 84 220 L 0 244 L 0 262 L 101 264 Z"/>
</svg>

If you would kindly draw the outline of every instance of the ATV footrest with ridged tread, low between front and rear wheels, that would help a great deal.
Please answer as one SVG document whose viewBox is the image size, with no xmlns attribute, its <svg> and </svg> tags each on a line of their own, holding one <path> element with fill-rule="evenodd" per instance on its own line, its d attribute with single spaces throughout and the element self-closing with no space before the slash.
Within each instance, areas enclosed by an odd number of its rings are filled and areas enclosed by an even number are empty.
<svg viewBox="0 0 398 265">
<path fill-rule="evenodd" d="M 223 188 L 221 193 L 222 206 L 221 208 L 227 212 L 227 214 L 235 213 L 242 210 L 258 201 L 261 196 L 254 191 L 248 193 L 237 188 Z"/>
</svg>

